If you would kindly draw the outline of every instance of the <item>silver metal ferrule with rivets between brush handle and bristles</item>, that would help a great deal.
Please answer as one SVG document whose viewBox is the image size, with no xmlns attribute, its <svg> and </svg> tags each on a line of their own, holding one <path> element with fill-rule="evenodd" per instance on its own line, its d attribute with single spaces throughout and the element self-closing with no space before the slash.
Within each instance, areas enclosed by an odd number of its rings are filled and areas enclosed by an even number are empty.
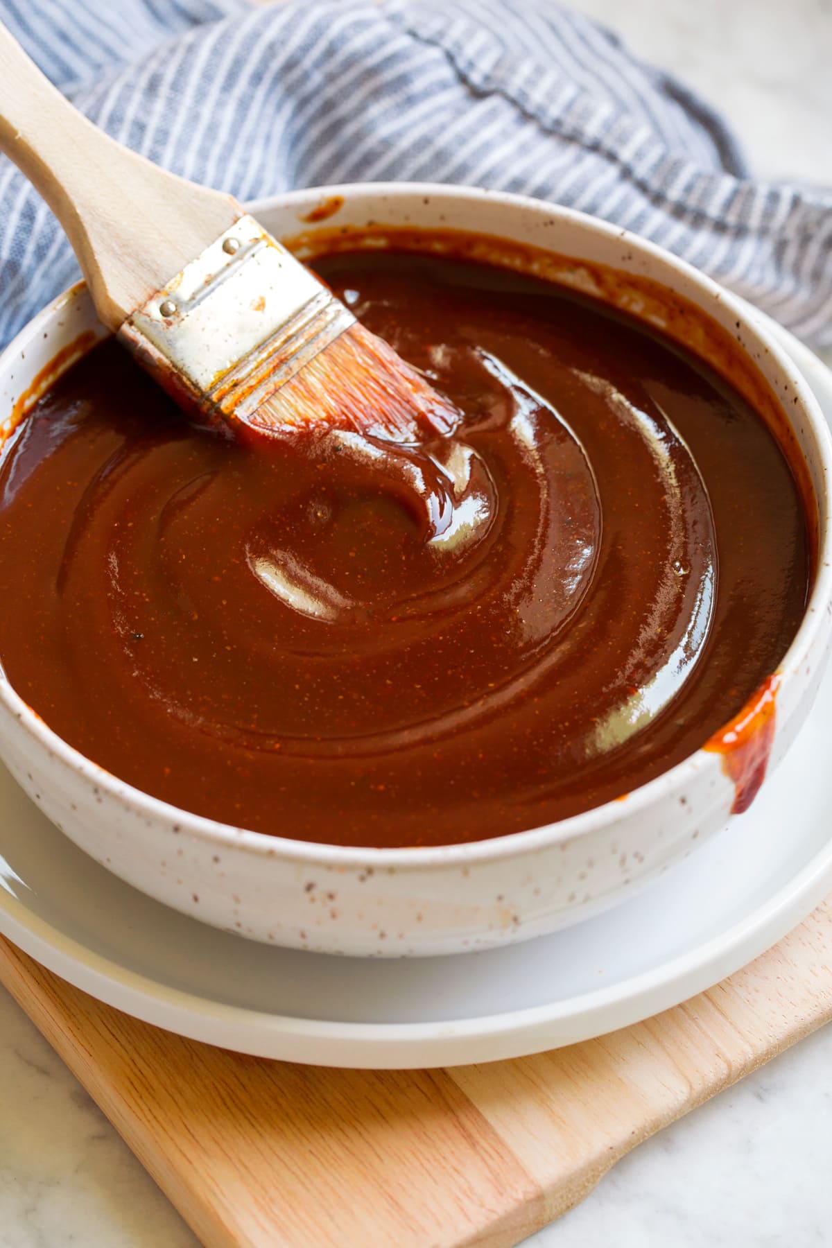
<svg viewBox="0 0 832 1248">
<path fill-rule="evenodd" d="M 249 216 L 242 216 L 122 324 L 119 337 L 203 418 L 257 411 L 353 314 Z"/>
</svg>

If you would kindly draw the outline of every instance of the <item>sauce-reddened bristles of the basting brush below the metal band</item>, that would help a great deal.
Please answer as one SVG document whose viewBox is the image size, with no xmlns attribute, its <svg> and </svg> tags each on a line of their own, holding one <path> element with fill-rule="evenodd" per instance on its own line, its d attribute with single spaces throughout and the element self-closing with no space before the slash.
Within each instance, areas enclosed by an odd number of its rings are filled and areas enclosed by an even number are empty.
<svg viewBox="0 0 832 1248">
<path fill-rule="evenodd" d="M 253 429 L 356 429 L 394 442 L 450 433 L 459 414 L 358 322 L 243 418 Z"/>
</svg>

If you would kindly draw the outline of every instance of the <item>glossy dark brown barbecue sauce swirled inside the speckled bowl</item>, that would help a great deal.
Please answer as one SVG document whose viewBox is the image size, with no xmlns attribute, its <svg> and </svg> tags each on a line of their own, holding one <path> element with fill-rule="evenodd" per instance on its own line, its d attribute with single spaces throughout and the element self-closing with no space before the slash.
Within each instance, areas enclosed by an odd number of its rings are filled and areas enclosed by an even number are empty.
<svg viewBox="0 0 832 1248">
<path fill-rule="evenodd" d="M 460 426 L 237 446 L 96 347 L 0 469 L 21 696 L 157 797 L 343 845 L 539 826 L 712 738 L 807 594 L 805 510 L 762 419 L 543 281 L 390 252 L 316 268 Z"/>
</svg>

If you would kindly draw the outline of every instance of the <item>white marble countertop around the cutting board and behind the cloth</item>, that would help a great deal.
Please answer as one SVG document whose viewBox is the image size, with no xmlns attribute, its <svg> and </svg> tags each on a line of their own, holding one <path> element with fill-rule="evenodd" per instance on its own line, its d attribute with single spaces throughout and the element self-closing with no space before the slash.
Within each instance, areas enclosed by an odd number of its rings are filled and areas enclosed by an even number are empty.
<svg viewBox="0 0 832 1248">
<path fill-rule="evenodd" d="M 832 0 L 573 0 L 730 117 L 767 176 L 832 183 Z M 832 1028 L 642 1144 L 529 1248 L 832 1244 Z M 196 1248 L 0 988 L 0 1248 Z"/>
</svg>

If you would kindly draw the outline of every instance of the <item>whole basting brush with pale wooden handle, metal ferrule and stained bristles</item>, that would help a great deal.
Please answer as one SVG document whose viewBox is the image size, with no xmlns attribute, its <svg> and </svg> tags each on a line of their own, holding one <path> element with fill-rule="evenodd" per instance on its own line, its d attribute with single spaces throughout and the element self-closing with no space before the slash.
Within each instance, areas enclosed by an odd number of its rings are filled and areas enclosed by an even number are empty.
<svg viewBox="0 0 832 1248">
<path fill-rule="evenodd" d="M 212 427 L 448 433 L 452 404 L 228 195 L 77 112 L 0 25 L 0 151 L 64 227 L 96 311 Z"/>
</svg>

